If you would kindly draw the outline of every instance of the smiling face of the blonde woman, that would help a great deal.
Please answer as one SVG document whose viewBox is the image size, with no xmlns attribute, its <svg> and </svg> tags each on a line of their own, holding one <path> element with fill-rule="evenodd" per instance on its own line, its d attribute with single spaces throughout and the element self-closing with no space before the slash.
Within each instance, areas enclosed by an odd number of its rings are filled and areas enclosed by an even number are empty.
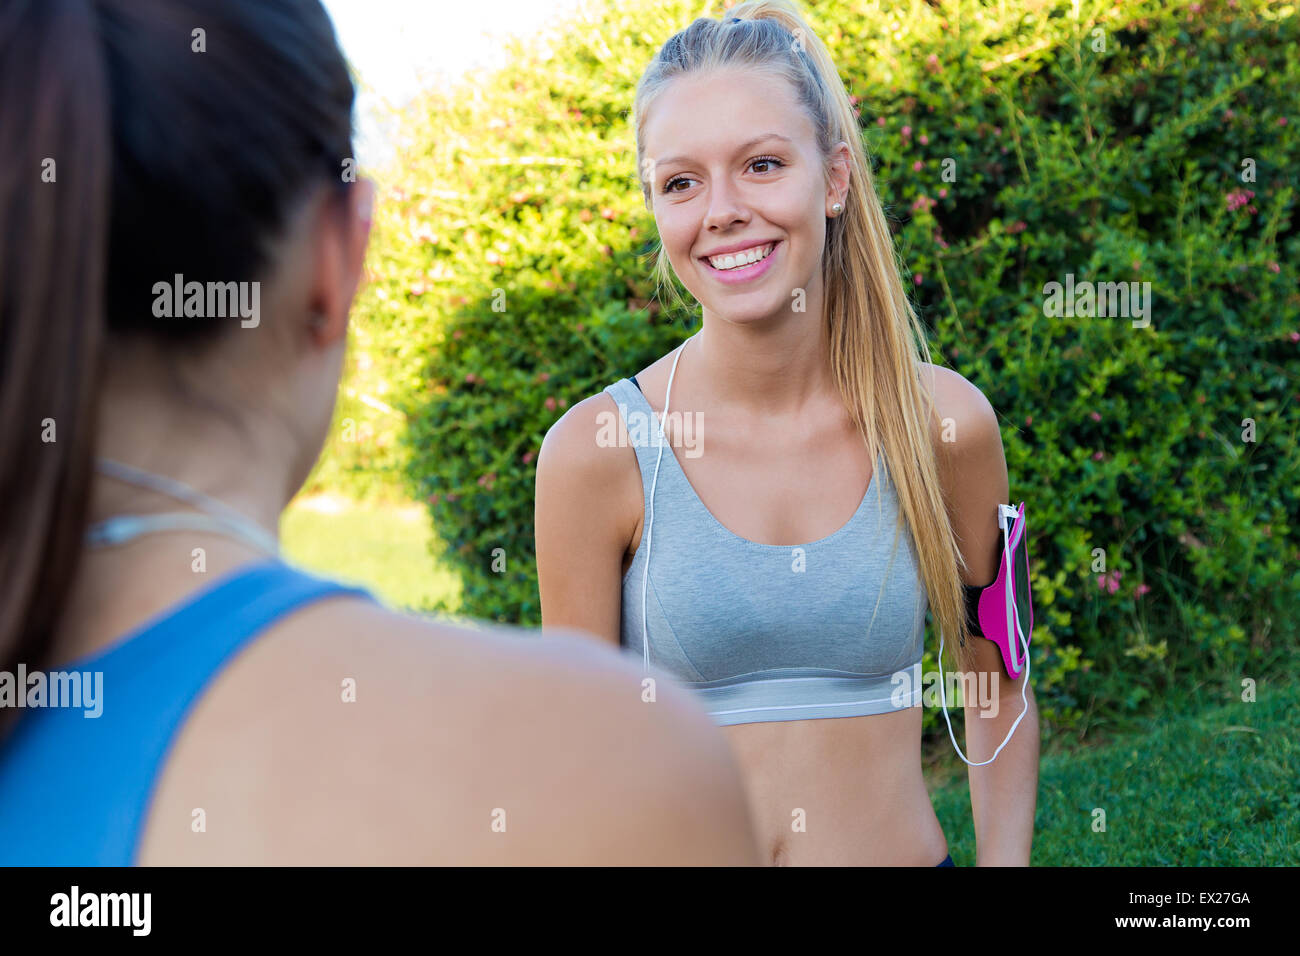
<svg viewBox="0 0 1300 956">
<path fill-rule="evenodd" d="M 753 323 L 789 316 L 796 289 L 820 300 L 826 217 L 848 166 L 827 177 L 789 83 L 679 77 L 650 108 L 642 144 L 664 252 L 707 312 Z"/>
</svg>

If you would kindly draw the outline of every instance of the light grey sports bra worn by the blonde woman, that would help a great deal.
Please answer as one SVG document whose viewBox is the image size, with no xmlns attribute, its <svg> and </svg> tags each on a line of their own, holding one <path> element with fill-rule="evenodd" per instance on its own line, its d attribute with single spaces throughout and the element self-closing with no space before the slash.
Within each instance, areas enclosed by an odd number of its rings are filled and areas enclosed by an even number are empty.
<svg viewBox="0 0 1300 956">
<path fill-rule="evenodd" d="M 883 455 L 833 535 L 758 544 L 705 507 L 677 460 L 689 449 L 666 444 L 660 460 L 659 416 L 641 390 L 627 378 L 604 390 L 636 451 L 646 515 L 654 490 L 649 548 L 642 532 L 623 578 L 620 644 L 642 654 L 645 631 L 651 666 L 719 726 L 919 706 L 928 596 Z"/>
</svg>

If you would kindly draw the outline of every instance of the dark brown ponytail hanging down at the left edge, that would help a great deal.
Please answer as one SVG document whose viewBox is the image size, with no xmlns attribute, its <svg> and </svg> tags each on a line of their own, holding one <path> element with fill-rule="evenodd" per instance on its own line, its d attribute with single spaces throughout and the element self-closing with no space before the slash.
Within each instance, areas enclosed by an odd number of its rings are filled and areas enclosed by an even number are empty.
<svg viewBox="0 0 1300 956">
<path fill-rule="evenodd" d="M 104 334 L 109 109 L 86 0 L 0 5 L 0 670 L 35 666 L 82 551 Z M 0 715 L 3 717 L 3 715 Z"/>
</svg>

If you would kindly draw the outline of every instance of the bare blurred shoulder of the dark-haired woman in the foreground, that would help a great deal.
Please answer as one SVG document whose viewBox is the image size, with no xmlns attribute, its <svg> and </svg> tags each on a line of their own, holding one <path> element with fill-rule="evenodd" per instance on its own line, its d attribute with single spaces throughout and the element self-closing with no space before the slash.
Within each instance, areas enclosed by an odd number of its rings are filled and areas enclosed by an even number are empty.
<svg viewBox="0 0 1300 956">
<path fill-rule="evenodd" d="M 581 637 L 320 601 L 199 700 L 140 861 L 744 862 L 731 754 L 682 695 L 644 704 Z"/>
</svg>

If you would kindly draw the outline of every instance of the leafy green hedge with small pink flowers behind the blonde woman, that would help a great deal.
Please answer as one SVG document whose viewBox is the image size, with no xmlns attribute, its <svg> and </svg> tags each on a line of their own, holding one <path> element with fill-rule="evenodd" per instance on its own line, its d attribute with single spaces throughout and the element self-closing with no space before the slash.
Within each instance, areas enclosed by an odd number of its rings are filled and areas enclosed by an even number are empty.
<svg viewBox="0 0 1300 956">
<path fill-rule="evenodd" d="M 1024 7 L 805 10 L 859 98 L 935 360 L 1002 416 L 1035 687 L 1084 728 L 1175 688 L 1232 695 L 1296 649 L 1300 29 L 1279 4 Z M 651 300 L 628 124 L 697 13 L 598 0 L 415 111 L 358 311 L 385 330 L 403 467 L 464 613 L 538 623 L 542 437 L 698 321 Z M 1149 325 L 1050 315 L 1067 274 L 1149 282 Z"/>
</svg>

